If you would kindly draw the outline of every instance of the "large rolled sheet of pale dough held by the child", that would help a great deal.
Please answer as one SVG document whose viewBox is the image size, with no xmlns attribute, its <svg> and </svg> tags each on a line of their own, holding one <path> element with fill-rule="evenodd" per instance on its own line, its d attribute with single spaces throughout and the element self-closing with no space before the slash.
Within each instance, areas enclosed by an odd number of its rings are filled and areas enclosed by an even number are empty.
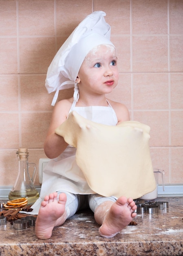
<svg viewBox="0 0 183 256">
<path fill-rule="evenodd" d="M 77 165 L 96 193 L 137 199 L 156 188 L 149 126 L 137 121 L 107 126 L 71 112 L 55 132 L 77 148 Z"/>
</svg>

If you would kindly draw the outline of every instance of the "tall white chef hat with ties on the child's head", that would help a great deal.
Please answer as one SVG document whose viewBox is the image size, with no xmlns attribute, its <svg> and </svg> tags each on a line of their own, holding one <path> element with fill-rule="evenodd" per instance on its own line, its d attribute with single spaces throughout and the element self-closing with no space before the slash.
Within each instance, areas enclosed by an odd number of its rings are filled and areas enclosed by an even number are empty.
<svg viewBox="0 0 183 256">
<path fill-rule="evenodd" d="M 75 80 L 84 58 L 97 45 L 113 45 L 110 42 L 110 25 L 103 11 L 94 11 L 75 28 L 51 62 L 46 75 L 46 89 L 55 92 L 52 106 L 57 101 L 59 90 L 75 87 L 74 100 L 79 98 Z M 114 45 L 113 45 L 114 46 Z"/>
</svg>

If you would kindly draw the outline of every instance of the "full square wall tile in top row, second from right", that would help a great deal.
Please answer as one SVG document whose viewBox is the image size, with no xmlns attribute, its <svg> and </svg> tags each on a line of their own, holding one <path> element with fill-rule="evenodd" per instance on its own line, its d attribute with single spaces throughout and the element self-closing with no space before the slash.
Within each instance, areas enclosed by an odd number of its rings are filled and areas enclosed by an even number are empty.
<svg viewBox="0 0 183 256">
<path fill-rule="evenodd" d="M 132 1 L 133 34 L 167 34 L 168 1 Z"/>
</svg>

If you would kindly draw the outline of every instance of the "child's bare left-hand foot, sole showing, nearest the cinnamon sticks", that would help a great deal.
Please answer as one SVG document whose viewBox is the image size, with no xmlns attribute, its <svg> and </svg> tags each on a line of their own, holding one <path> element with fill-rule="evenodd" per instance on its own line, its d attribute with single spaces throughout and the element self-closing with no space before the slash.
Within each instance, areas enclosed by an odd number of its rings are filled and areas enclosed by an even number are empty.
<svg viewBox="0 0 183 256">
<path fill-rule="evenodd" d="M 50 238 L 53 228 L 65 222 L 66 199 L 64 193 L 59 195 L 59 200 L 56 192 L 45 196 L 35 222 L 35 234 L 38 238 Z"/>
</svg>

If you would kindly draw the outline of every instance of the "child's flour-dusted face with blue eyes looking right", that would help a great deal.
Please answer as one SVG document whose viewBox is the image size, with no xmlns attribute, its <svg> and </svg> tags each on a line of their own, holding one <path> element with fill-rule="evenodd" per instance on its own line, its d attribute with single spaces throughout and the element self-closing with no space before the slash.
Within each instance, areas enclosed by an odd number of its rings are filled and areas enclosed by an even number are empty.
<svg viewBox="0 0 183 256">
<path fill-rule="evenodd" d="M 85 57 L 79 73 L 79 91 L 106 94 L 117 86 L 119 72 L 116 50 L 112 45 L 98 45 Z"/>
</svg>

